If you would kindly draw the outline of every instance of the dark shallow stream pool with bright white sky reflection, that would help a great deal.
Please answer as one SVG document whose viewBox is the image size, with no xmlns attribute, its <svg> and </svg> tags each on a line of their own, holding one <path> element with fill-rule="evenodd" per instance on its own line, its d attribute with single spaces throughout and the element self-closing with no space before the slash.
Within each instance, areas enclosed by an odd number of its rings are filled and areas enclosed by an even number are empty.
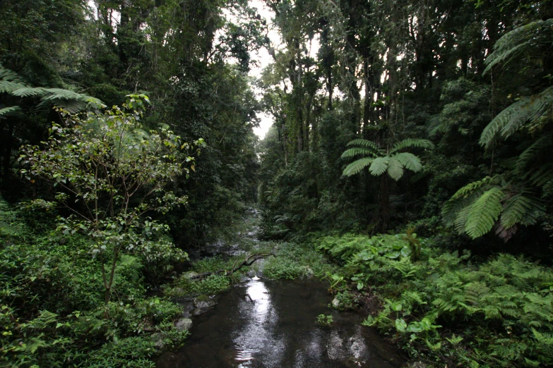
<svg viewBox="0 0 553 368">
<path fill-rule="evenodd" d="M 398 350 L 362 326 L 359 314 L 328 307 L 326 287 L 247 278 L 194 317 L 186 345 L 165 352 L 157 367 L 400 367 Z M 319 314 L 332 314 L 332 326 L 318 326 Z"/>
</svg>

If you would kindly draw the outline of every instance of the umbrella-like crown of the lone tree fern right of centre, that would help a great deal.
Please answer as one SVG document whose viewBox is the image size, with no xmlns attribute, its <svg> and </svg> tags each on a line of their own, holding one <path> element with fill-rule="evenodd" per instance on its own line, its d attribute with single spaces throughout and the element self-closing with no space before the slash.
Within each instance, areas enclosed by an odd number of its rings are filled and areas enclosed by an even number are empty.
<svg viewBox="0 0 553 368">
<path fill-rule="evenodd" d="M 347 145 L 353 147 L 347 149 L 342 154 L 343 158 L 356 157 L 358 155 L 368 157 L 357 159 L 347 165 L 343 171 L 344 176 L 355 175 L 368 166 L 371 175 L 381 176 L 383 173 L 387 172 L 388 175 L 396 181 L 403 177 L 405 168 L 415 173 L 420 171 L 422 168 L 419 157 L 409 152 L 400 152 L 402 149 L 408 149 L 411 147 L 424 149 L 434 148 L 434 144 L 429 140 L 415 139 L 408 139 L 398 142 L 388 152 L 379 148 L 374 144 L 374 142 L 369 140 L 352 140 Z"/>
</svg>

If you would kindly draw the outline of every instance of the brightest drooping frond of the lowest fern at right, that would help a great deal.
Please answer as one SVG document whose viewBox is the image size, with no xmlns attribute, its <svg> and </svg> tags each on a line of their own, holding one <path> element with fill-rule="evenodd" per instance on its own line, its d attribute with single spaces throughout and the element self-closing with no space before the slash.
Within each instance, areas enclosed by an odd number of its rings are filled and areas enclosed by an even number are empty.
<svg viewBox="0 0 553 368">
<path fill-rule="evenodd" d="M 479 238 L 492 229 L 503 210 L 501 200 L 504 196 L 501 189 L 494 187 L 472 204 L 465 224 L 465 232 L 470 238 Z"/>
</svg>

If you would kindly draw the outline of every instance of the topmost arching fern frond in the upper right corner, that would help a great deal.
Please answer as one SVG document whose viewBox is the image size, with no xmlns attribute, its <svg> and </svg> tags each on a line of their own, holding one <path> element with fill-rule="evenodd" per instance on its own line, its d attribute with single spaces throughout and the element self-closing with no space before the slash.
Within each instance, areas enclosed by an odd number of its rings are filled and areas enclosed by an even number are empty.
<svg viewBox="0 0 553 368">
<path fill-rule="evenodd" d="M 483 74 L 500 63 L 509 63 L 516 56 L 525 54 L 541 44 L 551 44 L 552 27 L 552 19 L 537 20 L 507 32 L 494 44 L 494 51 L 485 61 L 487 66 Z"/>
</svg>

